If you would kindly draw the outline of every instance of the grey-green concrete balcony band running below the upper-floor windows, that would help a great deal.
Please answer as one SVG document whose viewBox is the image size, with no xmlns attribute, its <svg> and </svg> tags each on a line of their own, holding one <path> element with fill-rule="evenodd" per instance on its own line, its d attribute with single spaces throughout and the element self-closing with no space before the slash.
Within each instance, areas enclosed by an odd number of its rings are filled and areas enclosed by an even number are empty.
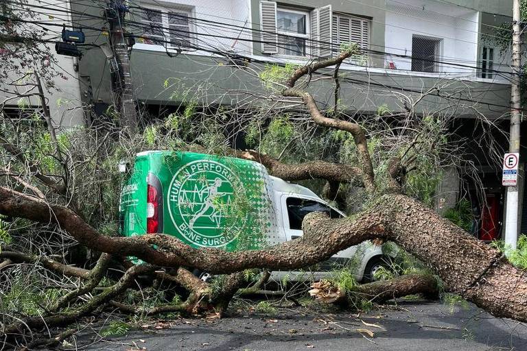
<svg viewBox="0 0 527 351">
<path fill-rule="evenodd" d="M 145 69 L 141 62 L 149 62 L 148 68 Z M 187 101 L 194 99 L 202 104 L 235 104 L 237 101 L 246 103 L 248 99 L 253 100 L 255 104 L 264 104 L 264 100 L 255 97 L 268 96 L 270 92 L 264 89 L 253 74 L 254 71 L 261 71 L 263 66 L 264 64 L 253 62 L 244 71 L 224 64 L 218 65 L 217 58 L 204 56 L 178 56 L 166 60 L 166 56 L 161 53 L 140 50 L 134 51 L 132 55 L 132 75 L 138 86 L 137 98 L 150 103 L 159 101 L 161 104 L 178 104 L 183 97 Z M 206 69 L 197 70 L 196 67 Z M 163 86 L 165 80 L 168 83 L 166 88 Z M 331 84 L 330 80 L 322 80 L 310 86 L 322 108 L 331 104 L 332 95 L 328 93 L 332 91 Z M 352 71 L 340 84 L 342 104 L 346 108 L 351 111 L 375 113 L 377 108 L 384 104 L 393 111 L 403 110 L 403 105 L 394 92 L 417 99 L 419 93 L 411 93 L 412 90 L 420 92 L 423 86 L 438 84 L 438 79 L 390 71 Z M 506 104 L 504 101 L 508 101 L 510 95 L 506 84 L 448 80 L 438 84 L 438 87 L 443 94 L 454 94 L 469 101 L 475 99 L 482 101 L 482 104 L 459 101 L 458 106 L 456 99 L 429 96 L 417 106 L 419 112 L 432 113 L 442 110 L 442 113 L 455 113 L 458 117 L 473 117 L 473 107 L 493 119 L 500 117 L 507 110 L 506 107 L 484 104 Z"/>
</svg>

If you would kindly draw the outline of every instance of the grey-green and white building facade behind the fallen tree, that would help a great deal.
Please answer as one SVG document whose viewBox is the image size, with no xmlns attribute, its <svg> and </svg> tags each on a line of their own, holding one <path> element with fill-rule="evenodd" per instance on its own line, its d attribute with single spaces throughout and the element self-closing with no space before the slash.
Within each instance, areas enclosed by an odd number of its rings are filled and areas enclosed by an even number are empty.
<svg viewBox="0 0 527 351">
<path fill-rule="evenodd" d="M 504 120 L 508 130 L 511 52 L 497 44 L 504 38 L 495 29 L 511 23 L 512 0 L 133 0 L 126 5 L 134 97 L 139 110 L 150 115 L 162 116 L 185 101 L 221 106 L 264 96 L 255 72 L 266 64 L 305 64 L 356 43 L 360 54 L 340 66 L 348 77 L 340 83 L 346 108 L 358 114 L 375 113 L 379 106 L 403 112 L 399 93 L 417 99 L 436 88 L 417 112 L 456 114 L 467 135 L 481 116 Z M 99 45 L 108 41 L 105 8 L 105 1 L 71 2 L 73 25 Z M 104 111 L 112 95 L 110 64 L 102 51 L 86 53 L 79 70 L 84 103 Z M 312 87 L 321 108 L 332 104 L 330 84 Z M 506 139 L 501 142 L 506 149 Z M 476 162 L 484 159 L 480 156 Z M 478 167 L 493 196 L 487 196 L 493 208 L 487 206 L 484 220 L 500 232 L 500 165 Z M 456 204 L 461 183 L 462 175 L 447 170 L 438 210 Z M 523 197 L 522 189 L 523 179 Z M 527 218 L 523 223 L 527 226 Z"/>
</svg>

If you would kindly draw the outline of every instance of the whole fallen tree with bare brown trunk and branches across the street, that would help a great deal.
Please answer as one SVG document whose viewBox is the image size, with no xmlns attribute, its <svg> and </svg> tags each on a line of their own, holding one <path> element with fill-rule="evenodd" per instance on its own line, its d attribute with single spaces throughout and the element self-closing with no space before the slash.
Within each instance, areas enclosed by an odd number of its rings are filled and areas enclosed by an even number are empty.
<svg viewBox="0 0 527 351">
<path fill-rule="evenodd" d="M 360 184 L 366 191 L 367 204 L 352 217 L 329 219 L 321 213 L 305 217 L 302 239 L 250 252 L 225 252 L 219 249 L 196 249 L 185 245 L 168 234 L 152 234 L 142 237 L 117 237 L 97 230 L 91 215 L 95 210 L 83 212 L 83 204 L 75 193 L 71 177 L 50 177 L 39 162 L 27 158 L 27 152 L 14 145 L 7 135 L 0 143 L 13 162 L 30 165 L 27 176 L 31 181 L 14 179 L 11 186 L 0 187 L 0 214 L 11 218 L 56 225 L 75 241 L 95 252 L 103 252 L 97 265 L 91 270 L 70 267 L 51 258 L 38 258 L 21 252 L 5 251 L 0 254 L 6 269 L 12 263 L 30 262 L 66 276 L 82 278 L 83 282 L 62 296 L 58 304 L 45 311 L 43 317 L 28 317 L 3 326 L 8 334 L 24 333 L 27 329 L 69 324 L 79 317 L 96 313 L 110 305 L 124 313 L 154 315 L 164 312 L 218 313 L 222 315 L 229 301 L 239 288 L 248 285 L 241 273 L 246 269 L 298 269 L 314 265 L 333 254 L 368 240 L 394 241 L 443 279 L 449 291 L 476 303 L 495 316 L 511 317 L 527 321 L 527 278 L 524 271 L 513 267 L 497 250 L 469 236 L 464 230 L 440 217 L 425 204 L 404 195 L 402 186 L 408 172 L 413 168 L 414 156 L 408 150 L 390 156 L 386 171 L 375 174 L 371 152 L 364 129 L 345 119 L 325 117 L 318 109 L 312 95 L 298 88 L 301 78 L 318 70 L 339 65 L 356 52 L 355 47 L 343 51 L 336 58 L 320 60 L 293 71 L 281 90 L 283 97 L 298 99 L 307 107 L 312 122 L 320 128 L 330 128 L 351 134 L 356 151 L 357 165 L 349 166 L 316 160 L 291 165 L 259 152 L 233 152 L 236 156 L 261 162 L 273 175 L 284 180 L 306 180 L 318 178 L 335 184 Z M 302 82 L 304 86 L 309 84 Z M 410 109 L 410 112 L 411 109 Z M 3 133 L 0 130 L 0 133 Z M 417 138 L 417 136 L 416 136 Z M 55 145 L 58 143 L 54 141 Z M 433 147 L 432 143 L 432 147 Z M 412 142 L 408 149 L 412 149 Z M 91 161 L 91 157 L 86 156 Z M 71 160 L 60 159 L 62 169 L 71 170 Z M 94 162 L 97 167 L 100 164 Z M 71 175 L 71 174 L 70 174 Z M 47 188 L 34 191 L 32 182 Z M 384 186 L 380 187 L 379 183 Z M 73 194 L 75 196 L 73 196 Z M 114 233 L 115 234 L 115 233 Z M 155 245 L 155 249 L 154 249 Z M 110 287 L 84 302 L 81 297 L 94 291 L 103 276 L 109 257 L 126 267 L 119 280 Z M 130 265 L 124 257 L 135 256 L 148 265 Z M 190 274 L 189 269 L 201 269 L 212 274 L 224 274 L 218 291 Z M 167 271 L 163 271 L 167 270 Z M 227 275 L 228 274 L 228 275 Z M 119 296 L 132 288 L 138 276 L 146 275 L 157 280 L 174 282 L 189 293 L 187 300 L 176 304 L 163 304 L 144 311 L 142 308 L 119 301 Z M 409 282 L 412 284 L 409 284 Z M 430 280 L 417 277 L 401 278 L 392 285 L 368 285 L 363 293 L 375 293 L 382 298 L 420 291 L 430 287 Z M 383 283 L 384 284 L 384 283 Z M 411 286 L 411 289 L 408 287 Z M 514 287 L 511 289 L 511 287 Z M 394 292 L 395 291 L 395 292 Z M 430 291 L 429 291 L 430 292 Z M 65 306 L 69 307 L 65 311 Z"/>
</svg>

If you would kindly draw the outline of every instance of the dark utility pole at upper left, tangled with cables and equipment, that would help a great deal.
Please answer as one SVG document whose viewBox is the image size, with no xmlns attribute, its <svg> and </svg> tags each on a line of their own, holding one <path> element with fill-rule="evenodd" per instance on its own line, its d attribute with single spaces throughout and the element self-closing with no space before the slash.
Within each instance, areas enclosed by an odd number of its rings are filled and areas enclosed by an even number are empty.
<svg viewBox="0 0 527 351">
<path fill-rule="evenodd" d="M 110 47 L 119 66 L 119 71 L 115 73 L 116 79 L 112 80 L 114 101 L 121 115 L 121 127 L 128 128 L 128 131 L 133 133 L 137 130 L 137 110 L 130 73 L 128 43 L 123 27 L 124 15 L 128 10 L 122 0 L 108 0 L 107 5 L 106 19 L 110 26 Z"/>
</svg>

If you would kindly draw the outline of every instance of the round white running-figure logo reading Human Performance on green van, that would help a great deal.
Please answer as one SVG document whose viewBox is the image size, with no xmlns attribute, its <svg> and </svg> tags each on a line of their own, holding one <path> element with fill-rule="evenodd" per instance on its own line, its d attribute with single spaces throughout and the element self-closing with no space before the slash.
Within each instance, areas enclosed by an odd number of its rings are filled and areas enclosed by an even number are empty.
<svg viewBox="0 0 527 351">
<path fill-rule="evenodd" d="M 169 185 L 168 211 L 174 227 L 200 247 L 232 243 L 246 221 L 231 206 L 235 191 L 241 189 L 242 182 L 226 165 L 213 160 L 187 163 Z"/>
</svg>

